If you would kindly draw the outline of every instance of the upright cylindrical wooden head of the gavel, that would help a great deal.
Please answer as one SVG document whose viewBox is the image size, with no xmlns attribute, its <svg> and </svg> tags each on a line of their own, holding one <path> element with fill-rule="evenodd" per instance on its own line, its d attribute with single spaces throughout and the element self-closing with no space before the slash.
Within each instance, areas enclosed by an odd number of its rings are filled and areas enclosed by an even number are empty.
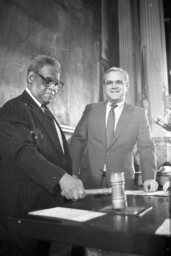
<svg viewBox="0 0 171 256">
<path fill-rule="evenodd" d="M 112 207 L 113 209 L 123 209 L 127 206 L 125 195 L 125 177 L 124 172 L 111 172 L 110 183 L 112 189 Z"/>
</svg>

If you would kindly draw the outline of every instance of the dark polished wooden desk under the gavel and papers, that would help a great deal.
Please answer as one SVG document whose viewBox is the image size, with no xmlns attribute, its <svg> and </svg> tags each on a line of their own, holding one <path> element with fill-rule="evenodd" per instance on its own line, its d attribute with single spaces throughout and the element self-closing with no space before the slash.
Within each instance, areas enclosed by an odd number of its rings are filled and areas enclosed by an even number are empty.
<svg viewBox="0 0 171 256">
<path fill-rule="evenodd" d="M 169 198 L 127 196 L 127 200 L 128 206 L 153 206 L 153 209 L 141 217 L 108 213 L 82 223 L 34 216 L 10 217 L 8 228 L 14 234 L 52 242 L 139 255 L 169 255 L 171 237 L 154 234 L 170 217 Z M 66 207 L 99 211 L 110 204 L 110 196 L 87 196 L 82 201 L 66 203 Z"/>
</svg>

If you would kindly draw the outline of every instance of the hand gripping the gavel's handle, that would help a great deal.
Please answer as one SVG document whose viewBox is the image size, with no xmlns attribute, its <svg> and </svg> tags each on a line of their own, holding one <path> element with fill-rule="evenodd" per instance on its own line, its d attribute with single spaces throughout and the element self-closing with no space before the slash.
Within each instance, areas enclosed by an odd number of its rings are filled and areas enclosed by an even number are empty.
<svg viewBox="0 0 171 256">
<path fill-rule="evenodd" d="M 85 197 L 83 183 L 76 176 L 67 173 L 60 179 L 61 195 L 67 199 L 77 200 Z"/>
</svg>

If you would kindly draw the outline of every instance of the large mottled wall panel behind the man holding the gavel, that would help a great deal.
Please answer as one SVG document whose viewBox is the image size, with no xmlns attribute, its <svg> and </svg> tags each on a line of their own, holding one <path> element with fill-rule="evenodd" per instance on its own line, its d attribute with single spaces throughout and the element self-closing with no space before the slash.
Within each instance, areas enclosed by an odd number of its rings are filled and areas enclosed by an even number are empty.
<svg viewBox="0 0 171 256">
<path fill-rule="evenodd" d="M 0 106 L 25 88 L 30 59 L 48 54 L 60 60 L 65 83 L 50 108 L 75 126 L 99 98 L 100 8 L 100 0 L 1 0 Z"/>
</svg>

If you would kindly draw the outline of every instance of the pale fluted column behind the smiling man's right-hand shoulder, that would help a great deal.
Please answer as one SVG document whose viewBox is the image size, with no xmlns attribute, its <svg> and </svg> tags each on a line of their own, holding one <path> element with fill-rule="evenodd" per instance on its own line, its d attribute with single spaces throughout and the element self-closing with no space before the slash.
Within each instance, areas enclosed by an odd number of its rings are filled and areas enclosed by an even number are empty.
<svg viewBox="0 0 171 256">
<path fill-rule="evenodd" d="M 160 165 L 171 161 L 170 132 L 151 121 L 165 116 L 168 95 L 163 1 L 119 0 L 118 15 L 120 66 L 131 82 L 128 101 L 146 108 Z"/>
</svg>

